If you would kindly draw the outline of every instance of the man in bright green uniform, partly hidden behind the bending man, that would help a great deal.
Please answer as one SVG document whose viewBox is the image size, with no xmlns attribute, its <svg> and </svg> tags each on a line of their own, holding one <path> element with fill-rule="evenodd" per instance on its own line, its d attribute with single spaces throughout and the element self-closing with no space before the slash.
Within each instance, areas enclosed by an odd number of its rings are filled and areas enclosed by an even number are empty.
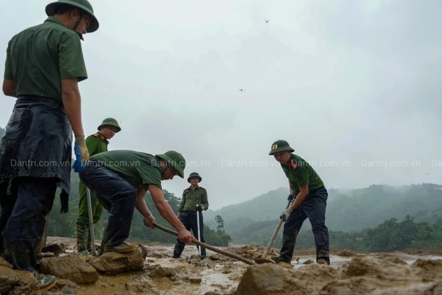
<svg viewBox="0 0 442 295">
<path fill-rule="evenodd" d="M 115 133 L 120 132 L 121 128 L 117 120 L 114 118 L 106 118 L 98 126 L 98 132 L 89 135 L 86 138 L 86 146 L 91 156 L 108 150 L 109 139 Z M 86 186 L 82 181 L 79 182 L 79 202 L 78 202 L 78 219 L 77 219 L 77 252 L 82 256 L 87 256 L 92 252 L 91 237 L 89 229 L 89 211 L 87 208 Z M 96 224 L 101 218 L 103 206 L 98 202 L 95 193 L 91 191 L 90 201 L 92 207 L 92 219 Z"/>
</svg>

